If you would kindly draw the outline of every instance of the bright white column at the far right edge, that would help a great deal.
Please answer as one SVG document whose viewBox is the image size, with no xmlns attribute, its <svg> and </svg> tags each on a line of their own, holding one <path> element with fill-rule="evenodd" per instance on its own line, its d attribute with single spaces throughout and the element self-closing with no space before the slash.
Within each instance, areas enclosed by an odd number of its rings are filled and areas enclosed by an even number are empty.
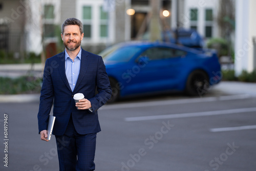
<svg viewBox="0 0 256 171">
<path fill-rule="evenodd" d="M 254 0 L 236 1 L 236 40 L 234 69 L 236 75 L 243 70 L 253 70 L 253 44 L 256 37 L 256 2 Z"/>
</svg>

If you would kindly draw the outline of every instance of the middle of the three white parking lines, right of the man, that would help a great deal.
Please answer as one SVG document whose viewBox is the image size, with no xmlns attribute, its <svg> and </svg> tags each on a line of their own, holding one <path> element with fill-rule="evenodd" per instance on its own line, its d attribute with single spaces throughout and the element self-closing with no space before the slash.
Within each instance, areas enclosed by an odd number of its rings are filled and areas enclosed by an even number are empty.
<svg viewBox="0 0 256 171">
<path fill-rule="evenodd" d="M 226 114 L 236 114 L 236 113 L 246 113 L 246 112 L 256 112 L 256 108 L 229 109 L 229 110 L 221 110 L 221 111 L 207 111 L 207 112 L 170 114 L 170 115 L 127 117 L 127 118 L 124 118 L 124 120 L 125 121 L 143 121 L 143 120 L 157 120 L 157 119 L 174 119 L 174 118 L 188 118 L 188 117 L 198 117 L 198 116 L 226 115 Z"/>
</svg>

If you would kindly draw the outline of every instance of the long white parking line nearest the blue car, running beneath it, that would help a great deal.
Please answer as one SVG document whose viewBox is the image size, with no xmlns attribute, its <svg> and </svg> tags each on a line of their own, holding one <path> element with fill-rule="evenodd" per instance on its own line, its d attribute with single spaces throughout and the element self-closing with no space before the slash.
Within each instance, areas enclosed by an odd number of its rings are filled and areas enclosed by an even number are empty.
<svg viewBox="0 0 256 171">
<path fill-rule="evenodd" d="M 225 100 L 236 100 L 236 99 L 247 99 L 247 98 L 251 98 L 251 96 L 248 94 L 240 94 L 240 95 L 230 95 L 230 96 L 220 96 L 220 97 L 203 97 L 203 98 L 189 98 L 189 99 L 178 99 L 178 100 L 134 102 L 134 103 L 124 103 L 124 104 L 108 104 L 108 105 L 102 106 L 99 110 L 141 108 L 146 106 L 201 103 L 201 102 L 225 101 Z"/>
</svg>

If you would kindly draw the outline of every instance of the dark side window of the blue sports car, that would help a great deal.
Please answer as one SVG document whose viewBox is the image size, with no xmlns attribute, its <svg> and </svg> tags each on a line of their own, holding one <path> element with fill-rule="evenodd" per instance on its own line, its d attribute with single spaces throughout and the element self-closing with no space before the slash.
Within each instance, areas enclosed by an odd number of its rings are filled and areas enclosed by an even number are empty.
<svg viewBox="0 0 256 171">
<path fill-rule="evenodd" d="M 144 51 L 141 56 L 148 57 L 149 60 L 159 60 L 159 59 L 168 59 L 178 56 L 184 56 L 186 55 L 185 51 L 177 50 L 173 48 L 150 48 Z"/>
</svg>

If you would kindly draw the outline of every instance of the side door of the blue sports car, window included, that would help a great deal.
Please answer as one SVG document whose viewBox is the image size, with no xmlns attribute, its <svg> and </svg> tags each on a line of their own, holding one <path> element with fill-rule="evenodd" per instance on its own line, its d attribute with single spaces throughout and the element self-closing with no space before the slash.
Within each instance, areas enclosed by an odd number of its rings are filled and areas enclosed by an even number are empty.
<svg viewBox="0 0 256 171">
<path fill-rule="evenodd" d="M 134 61 L 127 91 L 137 94 L 175 88 L 185 55 L 185 51 L 169 47 L 148 48 Z"/>
</svg>

